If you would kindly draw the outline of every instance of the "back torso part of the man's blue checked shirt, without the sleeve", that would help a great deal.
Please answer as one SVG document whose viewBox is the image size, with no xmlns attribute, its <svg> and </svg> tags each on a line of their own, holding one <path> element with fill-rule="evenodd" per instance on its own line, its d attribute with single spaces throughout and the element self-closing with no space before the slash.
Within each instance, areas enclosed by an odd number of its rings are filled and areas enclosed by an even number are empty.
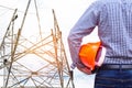
<svg viewBox="0 0 132 88">
<path fill-rule="evenodd" d="M 132 0 L 98 0 L 96 6 L 99 37 L 107 47 L 105 63 L 132 64 L 128 61 L 132 58 Z"/>
</svg>

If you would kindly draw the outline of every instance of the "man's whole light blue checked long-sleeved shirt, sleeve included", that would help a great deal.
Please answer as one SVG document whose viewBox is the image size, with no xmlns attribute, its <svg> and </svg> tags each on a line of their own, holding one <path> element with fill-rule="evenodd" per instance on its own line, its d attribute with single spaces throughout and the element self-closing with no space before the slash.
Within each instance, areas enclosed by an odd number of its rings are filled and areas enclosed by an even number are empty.
<svg viewBox="0 0 132 88">
<path fill-rule="evenodd" d="M 106 64 L 132 64 L 132 0 L 97 0 L 85 11 L 68 35 L 73 68 L 84 66 L 78 57 L 82 37 L 98 26 Z"/>
</svg>

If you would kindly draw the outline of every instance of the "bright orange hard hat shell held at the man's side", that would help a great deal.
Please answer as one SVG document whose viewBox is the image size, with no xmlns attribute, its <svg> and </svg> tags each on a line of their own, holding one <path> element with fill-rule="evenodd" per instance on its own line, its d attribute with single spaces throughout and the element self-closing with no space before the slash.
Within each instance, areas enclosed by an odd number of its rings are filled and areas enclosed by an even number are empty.
<svg viewBox="0 0 132 88">
<path fill-rule="evenodd" d="M 95 66 L 98 65 L 97 62 L 99 61 L 97 59 L 97 57 L 99 57 L 98 53 L 99 53 L 100 45 L 101 45 L 101 42 L 96 42 L 96 43 L 84 44 L 80 47 L 79 58 L 81 63 L 88 68 L 91 68 L 91 70 L 94 70 Z"/>
</svg>

